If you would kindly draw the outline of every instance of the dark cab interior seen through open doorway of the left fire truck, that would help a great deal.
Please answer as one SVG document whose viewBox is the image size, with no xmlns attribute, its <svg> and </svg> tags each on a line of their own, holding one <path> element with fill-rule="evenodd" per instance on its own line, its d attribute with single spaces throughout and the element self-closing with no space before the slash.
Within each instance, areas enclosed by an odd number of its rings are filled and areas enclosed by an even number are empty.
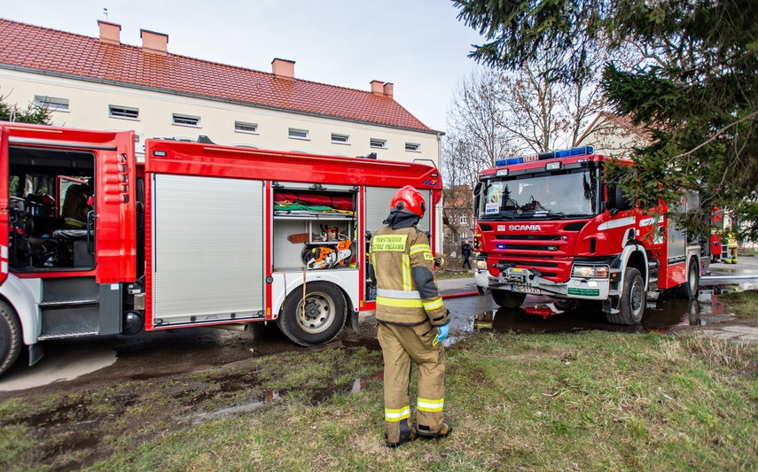
<svg viewBox="0 0 758 472">
<path fill-rule="evenodd" d="M 11 146 L 9 264 L 16 272 L 90 270 L 95 265 L 95 156 L 89 151 Z"/>
</svg>

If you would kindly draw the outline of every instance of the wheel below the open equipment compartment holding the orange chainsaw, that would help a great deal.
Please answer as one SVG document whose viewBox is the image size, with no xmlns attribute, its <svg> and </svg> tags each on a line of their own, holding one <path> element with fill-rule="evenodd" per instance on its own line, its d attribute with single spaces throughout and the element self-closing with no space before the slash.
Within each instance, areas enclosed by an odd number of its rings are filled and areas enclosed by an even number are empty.
<svg viewBox="0 0 758 472">
<path fill-rule="evenodd" d="M 342 291 L 332 283 L 310 282 L 306 286 L 305 300 L 302 289 L 295 289 L 287 296 L 277 326 L 295 344 L 325 344 L 337 337 L 345 325 L 346 306 Z"/>
</svg>

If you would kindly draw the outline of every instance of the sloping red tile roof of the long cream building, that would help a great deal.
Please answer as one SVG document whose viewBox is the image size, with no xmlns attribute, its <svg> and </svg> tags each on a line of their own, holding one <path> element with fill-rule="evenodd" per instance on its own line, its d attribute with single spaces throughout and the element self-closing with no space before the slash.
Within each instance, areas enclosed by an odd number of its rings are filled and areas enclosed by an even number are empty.
<svg viewBox="0 0 758 472">
<path fill-rule="evenodd" d="M 392 97 L 0 19 L 0 67 L 432 132 Z"/>
</svg>

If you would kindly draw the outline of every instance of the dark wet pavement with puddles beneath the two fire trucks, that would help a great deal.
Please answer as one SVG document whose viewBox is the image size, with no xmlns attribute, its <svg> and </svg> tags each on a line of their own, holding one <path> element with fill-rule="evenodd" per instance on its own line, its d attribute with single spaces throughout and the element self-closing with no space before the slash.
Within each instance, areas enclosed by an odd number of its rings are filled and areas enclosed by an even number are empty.
<svg viewBox="0 0 758 472">
<path fill-rule="evenodd" d="M 758 343 L 758 323 L 735 323 L 719 299 L 721 290 L 758 287 L 758 258 L 740 258 L 738 264 L 715 264 L 701 281 L 699 298 L 650 299 L 637 326 L 609 324 L 604 313 L 577 308 L 543 316 L 549 298 L 527 297 L 517 309 L 499 308 L 492 298 L 478 295 L 472 278 L 439 281 L 451 313 L 449 341 L 453 343 L 476 330 L 516 333 L 560 333 L 601 329 L 618 332 L 656 331 L 684 333 Z M 464 295 L 464 296 L 461 296 Z M 723 322 L 730 321 L 730 322 Z M 90 337 L 47 341 L 45 355 L 28 367 L 26 351 L 2 378 L 0 399 L 13 392 L 43 387 L 66 390 L 88 383 L 143 380 L 179 375 L 279 352 L 307 352 L 335 346 L 368 345 L 379 348 L 372 313 L 361 314 L 361 333 L 343 329 L 330 344 L 305 348 L 289 342 L 276 326 L 255 323 L 248 331 L 195 328 L 141 333 L 136 337 Z"/>
</svg>

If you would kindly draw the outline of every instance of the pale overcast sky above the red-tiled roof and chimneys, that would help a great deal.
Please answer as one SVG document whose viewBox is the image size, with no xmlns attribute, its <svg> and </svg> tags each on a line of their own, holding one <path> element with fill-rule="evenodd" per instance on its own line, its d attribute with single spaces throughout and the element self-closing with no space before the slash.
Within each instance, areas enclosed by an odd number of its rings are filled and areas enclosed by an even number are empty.
<svg viewBox="0 0 758 472">
<path fill-rule="evenodd" d="M 457 82 L 483 40 L 449 0 L 0 0 L 0 17 L 98 37 L 98 19 L 168 35 L 171 53 L 271 72 L 295 61 L 295 77 L 368 91 L 395 84 L 395 100 L 426 126 L 446 131 Z"/>
</svg>

